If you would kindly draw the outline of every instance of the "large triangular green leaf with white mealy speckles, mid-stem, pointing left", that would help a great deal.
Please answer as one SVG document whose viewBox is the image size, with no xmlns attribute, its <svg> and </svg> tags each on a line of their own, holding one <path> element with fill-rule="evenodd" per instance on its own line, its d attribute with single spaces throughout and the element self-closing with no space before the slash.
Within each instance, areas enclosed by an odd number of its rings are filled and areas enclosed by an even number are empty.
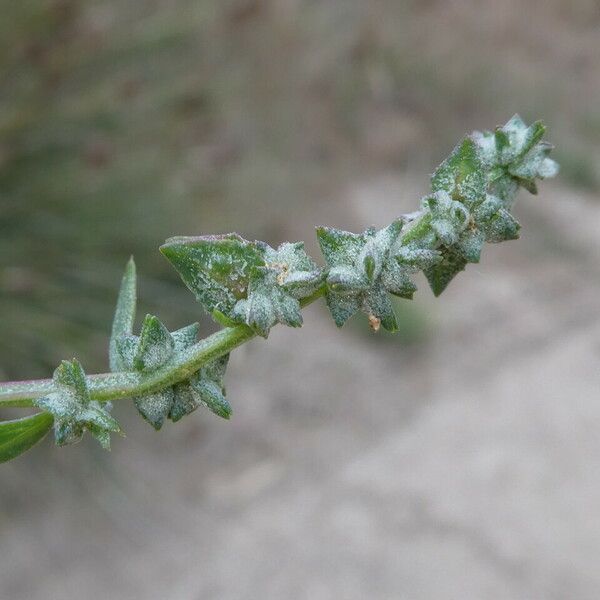
<svg viewBox="0 0 600 600">
<path fill-rule="evenodd" d="M 227 316 L 246 298 L 251 270 L 265 265 L 264 248 L 235 233 L 170 238 L 160 251 L 209 313 Z"/>
</svg>

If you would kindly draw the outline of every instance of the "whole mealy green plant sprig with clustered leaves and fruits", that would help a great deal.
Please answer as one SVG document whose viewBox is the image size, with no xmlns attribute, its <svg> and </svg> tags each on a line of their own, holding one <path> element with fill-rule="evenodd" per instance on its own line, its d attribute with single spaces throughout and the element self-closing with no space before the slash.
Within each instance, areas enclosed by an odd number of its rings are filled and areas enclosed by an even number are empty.
<svg viewBox="0 0 600 600">
<path fill-rule="evenodd" d="M 74 444 L 87 431 L 103 448 L 121 433 L 106 403 L 132 399 L 156 430 L 204 406 L 229 419 L 223 377 L 229 353 L 272 327 L 302 325 L 301 309 L 325 296 L 338 327 L 362 313 L 371 327 L 398 331 L 392 297 L 411 299 L 411 276 L 422 271 L 439 296 L 485 243 L 519 237 L 511 214 L 520 187 L 537 193 L 536 180 L 558 164 L 542 140 L 544 125 L 515 115 L 494 132 L 473 132 L 431 176 L 421 208 L 387 227 L 352 233 L 318 227 L 325 265 L 302 242 L 277 248 L 236 233 L 176 236 L 160 247 L 202 307 L 223 329 L 196 341 L 198 323 L 169 331 L 146 315 L 139 335 L 136 269 L 121 281 L 109 344 L 110 373 L 86 375 L 77 359 L 63 360 L 52 379 L 0 383 L 0 408 L 37 407 L 41 413 L 0 422 L 0 462 L 12 460 L 54 429 L 56 444 Z M 50 418 L 48 418 L 50 417 Z"/>
</svg>

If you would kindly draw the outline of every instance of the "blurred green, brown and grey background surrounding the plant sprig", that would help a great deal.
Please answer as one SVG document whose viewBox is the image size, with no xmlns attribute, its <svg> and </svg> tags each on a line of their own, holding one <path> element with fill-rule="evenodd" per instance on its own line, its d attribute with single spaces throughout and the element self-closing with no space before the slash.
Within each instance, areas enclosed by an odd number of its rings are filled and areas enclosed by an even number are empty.
<svg viewBox="0 0 600 600">
<path fill-rule="evenodd" d="M 46 440 L 0 472 L 0 598 L 596 600 L 596 0 L 0 0 L 0 379 L 107 367 L 140 314 L 215 325 L 157 252 L 413 210 L 472 129 L 543 118 L 562 164 L 401 332 L 324 306 L 236 351 L 230 423 Z M 6 412 L 6 411 L 5 411 Z M 11 415 L 14 413 L 10 413 Z M 6 412 L 8 416 L 9 413 Z"/>
</svg>

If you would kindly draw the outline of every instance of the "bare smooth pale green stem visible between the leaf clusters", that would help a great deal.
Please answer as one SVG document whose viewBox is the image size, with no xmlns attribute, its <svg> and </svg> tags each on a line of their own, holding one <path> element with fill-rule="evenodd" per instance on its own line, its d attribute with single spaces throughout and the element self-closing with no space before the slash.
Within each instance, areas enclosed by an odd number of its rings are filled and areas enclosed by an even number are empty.
<svg viewBox="0 0 600 600">
<path fill-rule="evenodd" d="M 312 296 L 300 301 L 302 307 L 308 306 L 325 294 L 325 286 Z M 93 400 L 107 402 L 122 400 L 156 392 L 180 381 L 188 379 L 206 363 L 231 352 L 255 337 L 247 325 L 237 325 L 221 329 L 200 340 L 178 357 L 174 364 L 168 364 L 152 373 L 100 373 L 88 375 L 87 382 Z M 30 407 L 33 400 L 54 391 L 52 379 L 29 381 L 8 381 L 0 383 L 0 408 Z"/>
</svg>

